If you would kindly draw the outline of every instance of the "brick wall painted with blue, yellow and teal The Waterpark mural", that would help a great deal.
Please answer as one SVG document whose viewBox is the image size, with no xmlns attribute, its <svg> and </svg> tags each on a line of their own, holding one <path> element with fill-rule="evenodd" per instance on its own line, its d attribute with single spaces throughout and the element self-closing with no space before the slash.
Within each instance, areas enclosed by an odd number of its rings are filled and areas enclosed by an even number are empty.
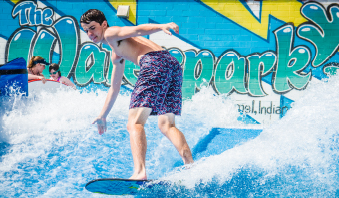
<svg viewBox="0 0 339 198">
<path fill-rule="evenodd" d="M 100 9 L 110 26 L 175 22 L 180 34 L 147 38 L 167 49 L 184 71 L 183 97 L 203 86 L 236 101 L 242 119 L 284 116 L 310 81 L 339 66 L 339 2 L 298 0 L 43 0 L 0 2 L 0 64 L 42 56 L 78 86 L 110 86 L 110 48 L 91 42 L 80 16 Z M 129 18 L 117 7 L 129 5 Z M 126 62 L 124 86 L 139 67 Z M 43 73 L 49 76 L 48 70 Z"/>
</svg>

